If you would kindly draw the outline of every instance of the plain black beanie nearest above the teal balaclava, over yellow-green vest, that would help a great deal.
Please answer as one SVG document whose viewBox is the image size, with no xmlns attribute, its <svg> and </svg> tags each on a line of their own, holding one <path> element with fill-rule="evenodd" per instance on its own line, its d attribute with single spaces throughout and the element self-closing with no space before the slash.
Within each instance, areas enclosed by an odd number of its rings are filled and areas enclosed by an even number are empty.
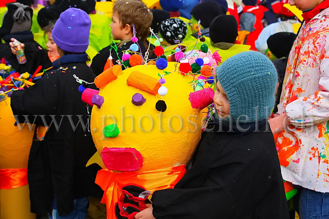
<svg viewBox="0 0 329 219">
<path fill-rule="evenodd" d="M 211 22 L 209 35 L 214 43 L 234 43 L 238 37 L 238 22 L 233 15 L 219 15 Z"/>
</svg>

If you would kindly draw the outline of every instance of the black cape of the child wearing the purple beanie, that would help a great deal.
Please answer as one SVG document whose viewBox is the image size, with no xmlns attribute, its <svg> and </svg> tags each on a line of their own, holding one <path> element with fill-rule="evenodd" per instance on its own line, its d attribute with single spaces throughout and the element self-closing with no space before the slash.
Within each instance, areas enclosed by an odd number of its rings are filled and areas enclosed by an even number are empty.
<svg viewBox="0 0 329 219">
<path fill-rule="evenodd" d="M 30 123 L 34 115 L 45 115 L 49 126 L 50 115 L 54 115 L 59 125 L 63 115 L 58 131 L 52 124 L 43 141 L 32 143 L 28 162 L 31 212 L 51 212 L 55 195 L 59 215 L 67 215 L 73 210 L 74 199 L 89 196 L 93 189 L 101 190 L 94 183 L 98 169 L 86 168 L 96 148 L 87 128 L 87 104 L 81 100 L 80 84 L 73 77 L 75 74 L 93 82 L 95 74 L 86 61 L 87 54 L 63 56 L 53 62 L 54 68 L 35 85 L 14 91 L 11 96 L 13 114 L 29 115 Z M 77 125 L 78 115 L 85 129 L 81 123 Z M 25 121 L 23 116 L 18 118 L 21 123 Z M 34 123 L 46 126 L 41 116 L 37 116 Z M 76 130 L 72 125 L 77 126 Z"/>
</svg>

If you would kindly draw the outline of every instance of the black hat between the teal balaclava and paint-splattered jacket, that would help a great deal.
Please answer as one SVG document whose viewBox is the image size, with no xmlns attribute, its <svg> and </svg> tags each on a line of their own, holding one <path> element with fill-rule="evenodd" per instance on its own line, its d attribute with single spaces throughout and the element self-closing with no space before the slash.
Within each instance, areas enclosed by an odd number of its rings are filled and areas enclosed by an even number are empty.
<svg viewBox="0 0 329 219">
<path fill-rule="evenodd" d="M 292 44 L 296 39 L 294 33 L 280 32 L 273 34 L 267 39 L 268 49 L 276 58 L 288 57 Z"/>
</svg>

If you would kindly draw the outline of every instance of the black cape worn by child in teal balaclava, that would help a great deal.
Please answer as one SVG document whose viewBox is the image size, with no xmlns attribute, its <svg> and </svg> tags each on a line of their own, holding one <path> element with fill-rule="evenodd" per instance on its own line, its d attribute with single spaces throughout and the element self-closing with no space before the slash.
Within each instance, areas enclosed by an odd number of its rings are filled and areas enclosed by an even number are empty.
<svg viewBox="0 0 329 219">
<path fill-rule="evenodd" d="M 269 128 L 268 128 L 269 129 Z M 202 135 L 192 167 L 173 189 L 154 192 L 156 219 L 288 219 L 272 132 Z"/>
</svg>

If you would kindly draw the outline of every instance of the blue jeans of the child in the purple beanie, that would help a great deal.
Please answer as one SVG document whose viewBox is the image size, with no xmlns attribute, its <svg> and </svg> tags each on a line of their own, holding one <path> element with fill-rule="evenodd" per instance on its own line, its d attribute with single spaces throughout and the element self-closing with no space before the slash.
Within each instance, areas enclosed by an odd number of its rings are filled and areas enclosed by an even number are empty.
<svg viewBox="0 0 329 219">
<path fill-rule="evenodd" d="M 73 211 L 65 216 L 59 216 L 56 206 L 56 198 L 53 202 L 52 214 L 48 214 L 49 219 L 86 219 L 87 218 L 87 208 L 89 205 L 89 197 L 83 197 L 74 199 Z"/>
</svg>

